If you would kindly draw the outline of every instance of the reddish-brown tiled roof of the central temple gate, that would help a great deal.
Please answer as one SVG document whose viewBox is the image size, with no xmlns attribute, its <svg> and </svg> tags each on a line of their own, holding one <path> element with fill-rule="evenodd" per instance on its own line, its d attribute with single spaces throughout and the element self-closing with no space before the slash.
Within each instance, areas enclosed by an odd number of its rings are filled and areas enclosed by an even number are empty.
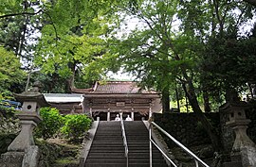
<svg viewBox="0 0 256 167">
<path fill-rule="evenodd" d="M 137 82 L 132 81 L 107 81 L 98 82 L 94 92 L 91 93 L 157 93 L 154 91 L 139 90 Z"/>
</svg>

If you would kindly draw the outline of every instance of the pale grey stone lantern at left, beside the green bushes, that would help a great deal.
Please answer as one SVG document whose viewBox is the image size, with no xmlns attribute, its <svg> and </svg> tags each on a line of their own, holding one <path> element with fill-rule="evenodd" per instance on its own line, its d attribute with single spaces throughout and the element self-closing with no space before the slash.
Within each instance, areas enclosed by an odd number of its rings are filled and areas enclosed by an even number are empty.
<svg viewBox="0 0 256 167">
<path fill-rule="evenodd" d="M 8 152 L 1 155 L 0 166 L 37 166 L 39 148 L 34 143 L 32 132 L 42 121 L 39 109 L 49 106 L 39 90 L 40 84 L 37 82 L 29 91 L 14 94 L 19 102 L 23 102 L 22 111 L 16 114 L 20 120 L 21 132 L 9 144 Z"/>
</svg>

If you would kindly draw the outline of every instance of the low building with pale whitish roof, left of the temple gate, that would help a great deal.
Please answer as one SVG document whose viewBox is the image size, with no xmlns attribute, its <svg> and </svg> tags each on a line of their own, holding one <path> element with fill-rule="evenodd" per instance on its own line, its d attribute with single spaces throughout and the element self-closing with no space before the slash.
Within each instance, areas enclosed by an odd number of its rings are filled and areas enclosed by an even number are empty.
<svg viewBox="0 0 256 167">
<path fill-rule="evenodd" d="M 45 93 L 47 103 L 61 114 L 83 113 L 83 95 L 78 93 Z"/>
</svg>

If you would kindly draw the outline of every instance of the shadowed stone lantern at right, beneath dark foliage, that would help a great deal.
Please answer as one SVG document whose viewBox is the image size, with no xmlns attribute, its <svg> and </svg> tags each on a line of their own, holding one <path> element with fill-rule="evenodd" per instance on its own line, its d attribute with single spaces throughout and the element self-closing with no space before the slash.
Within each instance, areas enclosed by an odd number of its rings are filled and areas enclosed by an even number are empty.
<svg viewBox="0 0 256 167">
<path fill-rule="evenodd" d="M 232 101 L 222 106 L 222 110 L 229 114 L 226 125 L 235 132 L 231 159 L 233 162 L 240 159 L 243 166 L 252 167 L 256 165 L 256 148 L 255 143 L 247 136 L 247 125 L 250 123 L 246 117 L 247 108 L 247 103 L 243 101 Z"/>
</svg>

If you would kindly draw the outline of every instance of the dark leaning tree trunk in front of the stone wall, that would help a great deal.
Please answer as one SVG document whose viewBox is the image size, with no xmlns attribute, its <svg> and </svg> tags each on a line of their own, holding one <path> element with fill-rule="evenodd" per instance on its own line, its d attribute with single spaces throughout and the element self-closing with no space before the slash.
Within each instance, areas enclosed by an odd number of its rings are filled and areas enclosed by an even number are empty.
<svg viewBox="0 0 256 167">
<path fill-rule="evenodd" d="M 187 74 L 184 74 L 184 76 L 186 78 L 186 83 L 184 82 L 182 84 L 182 86 L 183 86 L 183 88 L 186 92 L 186 95 L 189 99 L 189 102 L 192 106 L 193 112 L 195 113 L 198 121 L 202 123 L 205 130 L 207 131 L 214 150 L 215 151 L 220 151 L 221 143 L 220 143 L 219 137 L 217 135 L 217 131 L 212 125 L 210 125 L 210 122 L 206 118 L 202 109 L 200 109 L 200 107 L 199 107 L 199 104 L 198 104 L 198 101 L 197 101 L 197 98 L 196 98 L 196 95 L 195 95 L 194 87 L 192 85 L 192 80 L 189 78 L 189 76 Z"/>
</svg>

